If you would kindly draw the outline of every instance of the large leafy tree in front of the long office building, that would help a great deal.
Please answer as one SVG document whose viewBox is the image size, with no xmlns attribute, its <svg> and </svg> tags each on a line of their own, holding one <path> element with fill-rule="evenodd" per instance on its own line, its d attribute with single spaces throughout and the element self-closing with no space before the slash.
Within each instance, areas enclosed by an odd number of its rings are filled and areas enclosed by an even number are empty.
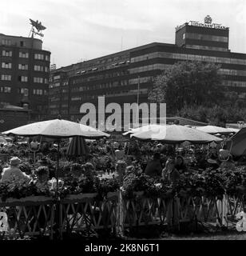
<svg viewBox="0 0 246 256">
<path fill-rule="evenodd" d="M 220 66 L 204 62 L 177 62 L 154 80 L 150 102 L 165 102 L 169 113 L 185 106 L 211 106 L 224 99 Z"/>
</svg>

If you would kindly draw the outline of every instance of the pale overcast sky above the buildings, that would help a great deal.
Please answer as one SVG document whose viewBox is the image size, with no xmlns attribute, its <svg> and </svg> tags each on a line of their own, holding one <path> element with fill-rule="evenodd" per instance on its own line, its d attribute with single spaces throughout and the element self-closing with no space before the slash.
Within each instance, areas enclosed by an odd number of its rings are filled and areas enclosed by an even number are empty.
<svg viewBox="0 0 246 256">
<path fill-rule="evenodd" d="M 27 37 L 29 18 L 41 21 L 43 48 L 51 64 L 85 59 L 141 46 L 174 43 L 175 27 L 190 20 L 230 28 L 229 48 L 246 54 L 245 0 L 1 0 L 0 33 Z"/>
</svg>

